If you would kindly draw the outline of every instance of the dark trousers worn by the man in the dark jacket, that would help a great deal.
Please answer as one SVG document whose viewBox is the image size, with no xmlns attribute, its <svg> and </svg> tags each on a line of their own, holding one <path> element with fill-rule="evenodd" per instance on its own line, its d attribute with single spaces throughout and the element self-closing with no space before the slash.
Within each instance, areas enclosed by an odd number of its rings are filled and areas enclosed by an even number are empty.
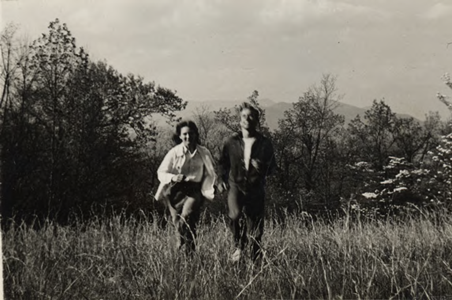
<svg viewBox="0 0 452 300">
<path fill-rule="evenodd" d="M 264 233 L 264 199 L 263 185 L 247 187 L 230 182 L 228 206 L 234 243 L 236 248 L 244 250 L 248 240 L 251 240 L 253 260 L 261 255 L 261 239 Z M 242 217 L 245 222 L 241 222 Z"/>
</svg>

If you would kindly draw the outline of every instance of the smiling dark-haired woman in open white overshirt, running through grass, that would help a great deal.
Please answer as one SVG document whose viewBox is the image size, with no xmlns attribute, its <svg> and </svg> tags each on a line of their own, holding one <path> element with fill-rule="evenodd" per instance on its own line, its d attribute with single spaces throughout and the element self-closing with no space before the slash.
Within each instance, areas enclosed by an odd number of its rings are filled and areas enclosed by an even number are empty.
<svg viewBox="0 0 452 300">
<path fill-rule="evenodd" d="M 177 143 L 165 156 L 157 175 L 160 186 L 155 198 L 168 205 L 179 235 L 178 248 L 195 250 L 196 223 L 204 198 L 213 200 L 216 174 L 212 155 L 199 144 L 198 127 L 192 121 L 176 126 Z"/>
</svg>

